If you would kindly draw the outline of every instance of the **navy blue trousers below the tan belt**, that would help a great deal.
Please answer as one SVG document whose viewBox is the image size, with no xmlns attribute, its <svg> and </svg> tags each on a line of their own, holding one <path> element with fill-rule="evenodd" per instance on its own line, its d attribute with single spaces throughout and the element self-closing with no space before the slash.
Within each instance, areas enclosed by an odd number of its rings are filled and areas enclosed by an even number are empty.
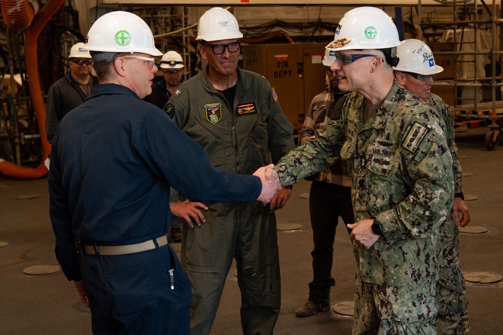
<svg viewBox="0 0 503 335">
<path fill-rule="evenodd" d="M 191 284 L 171 246 L 84 254 L 81 270 L 94 334 L 190 334 Z"/>
</svg>

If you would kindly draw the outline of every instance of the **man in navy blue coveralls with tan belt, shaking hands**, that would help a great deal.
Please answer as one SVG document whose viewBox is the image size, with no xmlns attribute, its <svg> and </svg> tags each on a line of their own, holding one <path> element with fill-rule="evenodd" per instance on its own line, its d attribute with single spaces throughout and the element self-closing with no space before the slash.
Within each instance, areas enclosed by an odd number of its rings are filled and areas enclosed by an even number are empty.
<svg viewBox="0 0 503 335">
<path fill-rule="evenodd" d="M 167 244 L 170 187 L 206 203 L 268 203 L 281 186 L 214 169 L 201 146 L 141 100 L 161 53 L 139 17 L 102 16 L 86 48 L 100 84 L 63 118 L 52 144 L 56 257 L 91 308 L 93 333 L 189 334 L 191 285 Z"/>
</svg>

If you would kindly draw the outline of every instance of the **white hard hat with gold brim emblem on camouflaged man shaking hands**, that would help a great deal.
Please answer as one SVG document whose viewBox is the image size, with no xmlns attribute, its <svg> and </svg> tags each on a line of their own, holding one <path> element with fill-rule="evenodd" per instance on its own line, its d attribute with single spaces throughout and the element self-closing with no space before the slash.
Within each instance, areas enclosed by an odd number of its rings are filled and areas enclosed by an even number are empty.
<svg viewBox="0 0 503 335">
<path fill-rule="evenodd" d="M 393 20 L 375 7 L 359 7 L 347 12 L 336 28 L 328 50 L 385 49 L 400 45 Z"/>
</svg>

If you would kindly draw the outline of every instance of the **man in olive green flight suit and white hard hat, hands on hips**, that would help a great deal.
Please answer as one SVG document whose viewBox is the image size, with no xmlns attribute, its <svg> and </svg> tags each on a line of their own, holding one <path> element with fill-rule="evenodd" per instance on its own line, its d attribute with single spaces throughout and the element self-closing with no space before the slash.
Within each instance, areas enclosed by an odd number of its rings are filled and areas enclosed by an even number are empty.
<svg viewBox="0 0 503 335">
<path fill-rule="evenodd" d="M 206 150 L 214 167 L 235 173 L 268 164 L 271 157 L 277 163 L 295 147 L 292 124 L 271 85 L 237 67 L 241 37 L 228 11 L 204 13 L 196 39 L 208 66 L 181 84 L 165 107 L 175 124 Z M 204 225 L 187 229 L 184 224 L 181 258 L 192 283 L 192 333 L 210 332 L 233 259 L 243 333 L 273 333 L 281 305 L 274 210 L 284 206 L 290 193 L 283 188 L 268 207 L 210 205 Z"/>
</svg>

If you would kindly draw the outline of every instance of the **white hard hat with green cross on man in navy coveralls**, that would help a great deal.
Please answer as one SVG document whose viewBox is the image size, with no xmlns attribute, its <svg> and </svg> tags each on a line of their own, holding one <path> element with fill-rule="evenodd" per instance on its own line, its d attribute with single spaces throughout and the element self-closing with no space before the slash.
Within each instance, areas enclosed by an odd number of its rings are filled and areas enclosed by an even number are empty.
<svg viewBox="0 0 503 335">
<path fill-rule="evenodd" d="M 117 52 L 141 52 L 161 56 L 154 45 L 154 37 L 145 21 L 129 12 L 110 12 L 100 17 L 91 26 L 86 49 L 112 55 Z M 95 59 L 99 58 L 99 59 Z M 111 58 L 106 56 L 108 60 Z M 94 61 L 104 59 L 93 56 Z"/>
</svg>

